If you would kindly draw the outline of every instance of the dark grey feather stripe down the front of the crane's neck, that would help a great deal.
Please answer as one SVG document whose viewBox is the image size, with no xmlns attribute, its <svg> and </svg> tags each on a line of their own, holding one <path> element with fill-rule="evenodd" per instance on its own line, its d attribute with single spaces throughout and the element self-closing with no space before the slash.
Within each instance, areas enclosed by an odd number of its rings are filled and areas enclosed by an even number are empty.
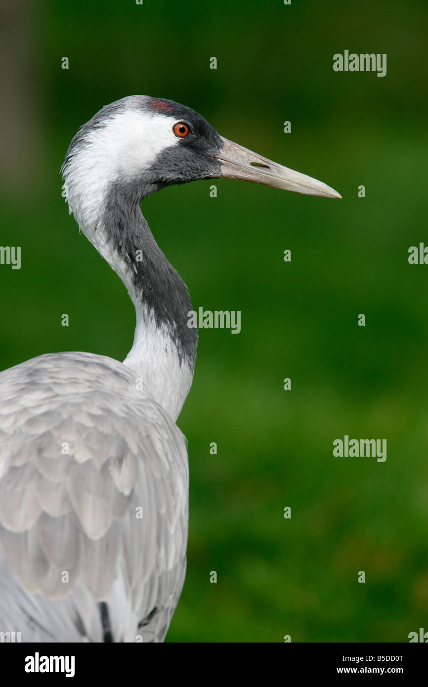
<svg viewBox="0 0 428 687">
<path fill-rule="evenodd" d="M 135 293 L 157 327 L 166 328 L 182 361 L 194 368 L 198 330 L 188 327 L 187 286 L 157 245 L 139 207 L 141 185 L 114 183 L 102 225 L 107 240 L 131 269 Z M 155 189 L 153 189 L 155 190 Z"/>
</svg>

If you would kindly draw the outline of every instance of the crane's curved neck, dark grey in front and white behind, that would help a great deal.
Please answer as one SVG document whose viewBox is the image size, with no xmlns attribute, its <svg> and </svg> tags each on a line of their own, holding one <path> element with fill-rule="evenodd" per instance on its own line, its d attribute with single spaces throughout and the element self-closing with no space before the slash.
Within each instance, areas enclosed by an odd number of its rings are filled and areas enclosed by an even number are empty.
<svg viewBox="0 0 428 687">
<path fill-rule="evenodd" d="M 153 189 L 155 190 L 155 189 Z M 187 287 L 157 245 L 139 207 L 141 194 L 112 185 L 102 218 L 81 227 L 120 276 L 135 305 L 137 323 L 124 360 L 136 385 L 174 420 L 192 385 L 198 331 L 188 327 L 192 304 Z"/>
</svg>

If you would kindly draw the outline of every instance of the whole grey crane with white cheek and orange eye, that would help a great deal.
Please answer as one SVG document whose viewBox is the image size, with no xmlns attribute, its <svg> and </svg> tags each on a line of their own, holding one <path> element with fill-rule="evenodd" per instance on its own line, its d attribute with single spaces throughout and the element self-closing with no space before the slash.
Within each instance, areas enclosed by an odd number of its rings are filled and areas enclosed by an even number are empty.
<svg viewBox="0 0 428 687">
<path fill-rule="evenodd" d="M 198 335 L 140 203 L 218 177 L 341 196 L 146 95 L 102 107 L 61 172 L 70 214 L 133 301 L 135 335 L 123 363 L 64 352 L 0 374 L 0 631 L 161 642 L 185 578 L 188 455 L 176 420 Z"/>
</svg>

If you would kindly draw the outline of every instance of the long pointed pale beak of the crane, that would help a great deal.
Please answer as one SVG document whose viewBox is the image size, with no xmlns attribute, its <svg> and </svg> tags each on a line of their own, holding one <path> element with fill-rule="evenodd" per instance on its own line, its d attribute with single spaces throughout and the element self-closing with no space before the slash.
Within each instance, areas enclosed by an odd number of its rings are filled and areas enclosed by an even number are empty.
<svg viewBox="0 0 428 687">
<path fill-rule="evenodd" d="M 223 138 L 223 146 L 216 159 L 220 161 L 219 177 L 227 179 L 242 179 L 264 183 L 273 188 L 286 191 L 304 193 L 308 196 L 322 196 L 323 198 L 341 198 L 342 196 L 330 188 L 326 183 L 306 177 L 306 174 L 294 172 L 288 167 L 278 165 L 266 157 L 257 155 L 243 146 Z"/>
</svg>

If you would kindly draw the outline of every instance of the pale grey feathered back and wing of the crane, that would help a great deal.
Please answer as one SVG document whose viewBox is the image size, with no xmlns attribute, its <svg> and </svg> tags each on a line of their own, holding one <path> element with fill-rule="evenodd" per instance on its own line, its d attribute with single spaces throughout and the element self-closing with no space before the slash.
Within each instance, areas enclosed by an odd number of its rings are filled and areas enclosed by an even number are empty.
<svg viewBox="0 0 428 687">
<path fill-rule="evenodd" d="M 24 641 L 102 641 L 104 600 L 116 641 L 162 639 L 187 541 L 187 453 L 172 418 L 122 363 L 84 353 L 2 372 L 0 398 L 2 629 L 36 608 Z"/>
</svg>

